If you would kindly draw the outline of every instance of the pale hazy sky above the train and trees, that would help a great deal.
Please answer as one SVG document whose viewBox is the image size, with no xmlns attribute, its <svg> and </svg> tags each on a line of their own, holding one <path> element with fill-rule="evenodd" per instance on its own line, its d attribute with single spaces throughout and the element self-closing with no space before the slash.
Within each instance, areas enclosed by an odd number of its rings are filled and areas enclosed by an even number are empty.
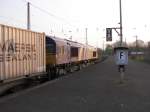
<svg viewBox="0 0 150 112">
<path fill-rule="evenodd" d="M 0 24 L 26 28 L 27 2 L 30 2 L 31 30 L 60 38 L 72 38 L 103 47 L 106 28 L 119 27 L 119 0 L 0 0 Z M 150 41 L 150 1 L 122 0 L 123 40 L 135 36 Z M 113 42 L 119 40 L 113 31 Z"/>
</svg>

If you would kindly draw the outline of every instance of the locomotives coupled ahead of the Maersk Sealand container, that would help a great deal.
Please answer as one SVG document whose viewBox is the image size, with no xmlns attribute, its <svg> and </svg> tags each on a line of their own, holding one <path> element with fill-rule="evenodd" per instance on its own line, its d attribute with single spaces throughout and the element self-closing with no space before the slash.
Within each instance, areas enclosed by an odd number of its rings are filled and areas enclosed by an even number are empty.
<svg viewBox="0 0 150 112">
<path fill-rule="evenodd" d="M 97 60 L 97 48 L 78 42 L 46 36 L 46 69 L 48 74 L 59 75 L 60 70 L 72 72 Z"/>
</svg>

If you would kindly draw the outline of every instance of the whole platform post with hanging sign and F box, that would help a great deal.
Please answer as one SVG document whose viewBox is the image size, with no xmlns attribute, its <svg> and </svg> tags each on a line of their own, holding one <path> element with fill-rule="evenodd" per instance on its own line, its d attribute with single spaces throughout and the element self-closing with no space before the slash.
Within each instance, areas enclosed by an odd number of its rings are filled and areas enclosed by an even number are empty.
<svg viewBox="0 0 150 112">
<path fill-rule="evenodd" d="M 128 64 L 128 48 L 123 47 L 123 32 L 122 32 L 122 6 L 121 0 L 119 0 L 120 9 L 120 27 L 106 28 L 106 41 L 112 41 L 112 30 L 115 30 L 120 37 L 120 46 L 114 48 L 115 51 L 115 61 L 118 66 L 118 71 L 120 72 L 120 82 L 123 83 L 125 65 Z M 118 31 L 120 30 L 120 31 Z"/>
</svg>

